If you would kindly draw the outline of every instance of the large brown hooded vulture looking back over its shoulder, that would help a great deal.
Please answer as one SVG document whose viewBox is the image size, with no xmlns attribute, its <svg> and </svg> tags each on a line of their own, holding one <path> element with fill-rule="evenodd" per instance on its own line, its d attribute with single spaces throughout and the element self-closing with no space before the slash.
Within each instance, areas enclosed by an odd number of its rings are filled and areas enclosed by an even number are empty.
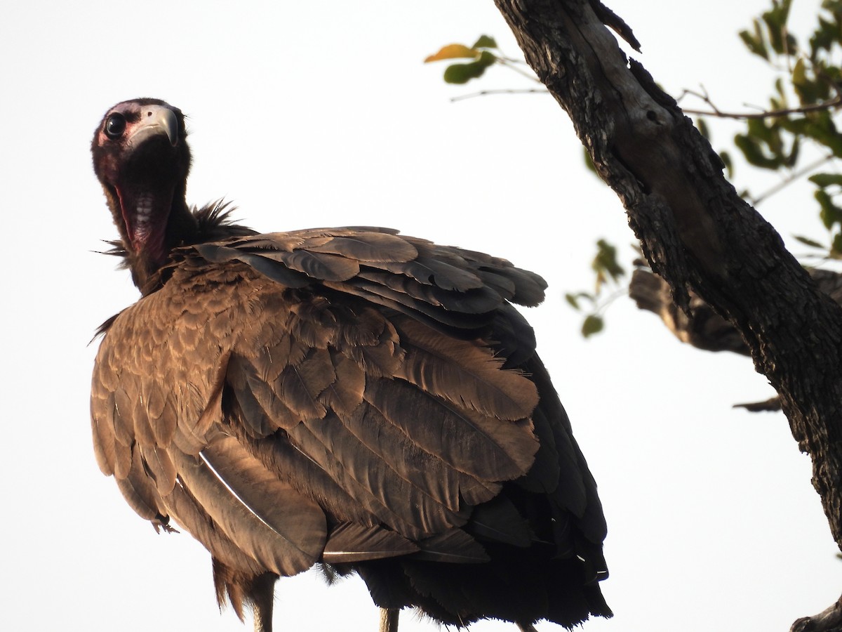
<svg viewBox="0 0 842 632">
<path fill-rule="evenodd" d="M 386 621 L 610 617 L 596 485 L 511 304 L 540 303 L 541 277 L 388 228 L 191 210 L 186 136 L 157 99 L 93 135 L 141 292 L 101 327 L 91 392 L 131 508 L 204 544 L 219 603 L 258 632 L 275 580 L 313 565 L 362 577 Z"/>
</svg>

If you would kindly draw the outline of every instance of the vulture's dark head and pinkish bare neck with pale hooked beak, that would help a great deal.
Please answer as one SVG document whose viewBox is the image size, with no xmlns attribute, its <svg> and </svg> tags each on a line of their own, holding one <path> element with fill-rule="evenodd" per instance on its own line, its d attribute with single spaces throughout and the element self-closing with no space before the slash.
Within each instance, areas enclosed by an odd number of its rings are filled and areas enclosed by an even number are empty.
<svg viewBox="0 0 842 632">
<path fill-rule="evenodd" d="M 105 113 L 93 134 L 93 170 L 120 230 L 138 287 L 197 224 L 184 194 L 190 169 L 181 110 L 160 99 L 134 99 Z"/>
</svg>

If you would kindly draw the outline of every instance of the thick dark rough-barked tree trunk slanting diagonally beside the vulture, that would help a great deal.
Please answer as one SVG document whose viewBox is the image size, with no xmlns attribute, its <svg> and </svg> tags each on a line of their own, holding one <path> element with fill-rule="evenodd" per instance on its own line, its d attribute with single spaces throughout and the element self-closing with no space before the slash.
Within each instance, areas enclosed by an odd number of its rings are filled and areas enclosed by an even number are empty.
<svg viewBox="0 0 842 632">
<path fill-rule="evenodd" d="M 674 99 L 620 50 L 603 22 L 635 46 L 621 20 L 597 0 L 495 2 L 675 302 L 686 309 L 690 289 L 743 335 L 813 458 L 813 485 L 842 545 L 842 310 L 737 195 Z"/>
</svg>

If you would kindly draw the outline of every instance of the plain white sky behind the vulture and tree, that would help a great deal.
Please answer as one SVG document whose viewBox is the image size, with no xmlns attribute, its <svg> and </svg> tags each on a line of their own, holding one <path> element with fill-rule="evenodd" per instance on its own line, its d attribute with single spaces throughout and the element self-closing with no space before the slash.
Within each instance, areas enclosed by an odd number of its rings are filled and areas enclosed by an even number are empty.
<svg viewBox="0 0 842 632">
<path fill-rule="evenodd" d="M 703 83 L 722 109 L 766 103 L 770 74 L 736 35 L 765 0 L 608 4 L 672 94 Z M 796 28 L 817 4 L 795 3 Z M 589 287 L 594 241 L 610 238 L 631 259 L 616 195 L 585 171 L 551 98 L 451 104 L 525 83 L 500 69 L 477 88 L 451 87 L 443 64 L 421 63 L 483 33 L 516 54 L 490 0 L 232 6 L 3 9 L 0 629 L 250 629 L 217 612 L 205 549 L 186 533 L 156 535 L 93 459 L 88 340 L 136 290 L 92 253 L 116 231 L 88 147 L 104 111 L 138 96 L 189 114 L 192 203 L 225 196 L 266 231 L 401 228 L 546 277 L 530 320 L 609 521 L 603 589 L 616 617 L 586 630 L 788 629 L 839 597 L 842 562 L 786 419 L 731 409 L 771 395 L 751 362 L 679 345 L 627 299 L 610 308 L 605 335 L 578 336 L 563 293 Z M 715 146 L 734 129 L 714 126 Z M 761 209 L 787 239 L 824 237 L 805 191 Z M 278 632 L 376 629 L 356 578 L 328 588 L 309 573 L 280 581 L 276 596 Z M 407 613 L 402 629 L 435 626 Z M 472 626 L 502 629 L 514 626 Z"/>
</svg>

